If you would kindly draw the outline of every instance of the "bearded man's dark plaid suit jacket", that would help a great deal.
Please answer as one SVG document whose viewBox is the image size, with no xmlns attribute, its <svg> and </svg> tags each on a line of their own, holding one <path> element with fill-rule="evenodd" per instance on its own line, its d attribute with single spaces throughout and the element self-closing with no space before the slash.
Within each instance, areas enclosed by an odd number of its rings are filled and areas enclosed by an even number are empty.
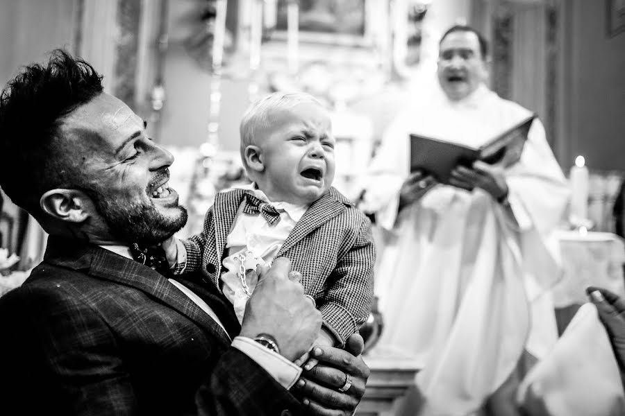
<svg viewBox="0 0 625 416">
<path fill-rule="evenodd" d="M 303 413 L 165 277 L 89 243 L 49 239 L 0 333 L 4 415 Z"/>
</svg>

